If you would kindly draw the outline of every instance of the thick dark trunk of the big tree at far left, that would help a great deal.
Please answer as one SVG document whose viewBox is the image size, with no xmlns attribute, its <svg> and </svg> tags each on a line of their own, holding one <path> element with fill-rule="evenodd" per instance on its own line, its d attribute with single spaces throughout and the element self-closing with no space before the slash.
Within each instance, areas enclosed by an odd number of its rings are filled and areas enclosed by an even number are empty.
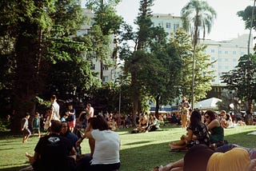
<svg viewBox="0 0 256 171">
<path fill-rule="evenodd" d="M 19 35 L 15 45 L 16 68 L 13 84 L 14 116 L 11 129 L 21 131 L 20 121 L 26 113 L 34 114 L 34 97 L 38 93 L 38 42 L 37 39 Z"/>
</svg>

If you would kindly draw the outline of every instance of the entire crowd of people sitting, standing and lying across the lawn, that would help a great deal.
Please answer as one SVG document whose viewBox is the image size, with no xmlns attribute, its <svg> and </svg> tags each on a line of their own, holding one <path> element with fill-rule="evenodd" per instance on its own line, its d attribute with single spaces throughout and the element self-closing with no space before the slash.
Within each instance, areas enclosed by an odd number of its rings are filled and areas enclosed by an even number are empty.
<svg viewBox="0 0 256 171">
<path fill-rule="evenodd" d="M 61 117 L 57 97 L 51 97 L 51 105 L 43 128 L 48 133 L 41 136 L 41 116 L 35 113 L 31 121 L 32 133 L 40 137 L 34 148 L 34 155 L 26 153 L 30 160 L 30 169 L 37 170 L 102 170 L 115 171 L 120 168 L 120 137 L 114 130 L 132 126 L 128 116 L 113 113 L 94 115 L 90 103 L 81 113 L 76 113 L 69 104 L 66 113 Z M 234 122 L 229 113 L 222 110 L 220 114 L 212 110 L 204 112 L 190 109 L 186 97 L 180 105 L 180 124 L 186 133 L 178 141 L 170 141 L 170 152 L 186 151 L 185 157 L 166 166 L 157 166 L 154 171 L 177 170 L 256 170 L 256 149 L 248 149 L 240 145 L 228 144 L 224 138 L 224 129 L 233 128 Z M 78 117 L 76 117 L 78 116 Z M 29 128 L 30 113 L 22 118 L 22 142 L 31 135 Z M 138 126 L 132 133 L 147 133 L 160 130 L 160 122 L 164 118 L 154 113 L 140 114 L 136 121 Z M 239 122 L 242 124 L 242 121 Z M 78 129 L 77 128 L 83 128 Z M 83 154 L 81 143 L 86 138 L 90 153 Z M 198 160 L 198 156 L 200 160 Z M 231 160 L 232 159 L 232 160 Z M 234 165 L 226 165 L 228 162 Z M 200 162 L 200 163 L 198 163 Z"/>
</svg>

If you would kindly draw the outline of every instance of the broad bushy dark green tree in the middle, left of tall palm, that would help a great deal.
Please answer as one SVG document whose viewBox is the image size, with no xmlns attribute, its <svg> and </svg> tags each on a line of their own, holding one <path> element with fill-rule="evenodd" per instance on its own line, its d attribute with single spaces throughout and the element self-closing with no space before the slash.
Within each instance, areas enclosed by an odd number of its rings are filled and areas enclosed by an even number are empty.
<svg viewBox="0 0 256 171">
<path fill-rule="evenodd" d="M 167 34 L 161 27 L 151 28 L 149 35 L 149 53 L 141 55 L 142 70 L 139 70 L 139 80 L 145 85 L 145 91 L 154 97 L 155 114 L 158 116 L 160 104 L 170 104 L 178 96 L 178 80 L 182 59 L 172 43 L 167 43 Z M 144 58 L 143 58 L 144 57 Z"/>
</svg>

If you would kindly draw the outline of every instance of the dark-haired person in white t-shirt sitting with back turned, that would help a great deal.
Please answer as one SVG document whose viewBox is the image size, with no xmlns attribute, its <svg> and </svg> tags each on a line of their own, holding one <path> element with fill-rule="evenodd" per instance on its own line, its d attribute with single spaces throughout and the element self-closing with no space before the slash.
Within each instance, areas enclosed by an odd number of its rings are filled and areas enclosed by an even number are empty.
<svg viewBox="0 0 256 171">
<path fill-rule="evenodd" d="M 90 156 L 80 159 L 78 171 L 112 171 L 120 168 L 120 137 L 110 129 L 102 115 L 90 117 L 84 136 L 77 144 L 80 144 L 85 137 L 89 139 L 91 153 Z"/>
</svg>

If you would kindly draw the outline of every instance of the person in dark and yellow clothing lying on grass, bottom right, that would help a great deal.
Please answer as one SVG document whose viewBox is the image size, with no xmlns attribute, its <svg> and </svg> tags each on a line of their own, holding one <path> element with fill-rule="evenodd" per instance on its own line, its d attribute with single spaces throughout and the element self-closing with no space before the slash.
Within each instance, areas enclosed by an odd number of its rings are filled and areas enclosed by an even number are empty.
<svg viewBox="0 0 256 171">
<path fill-rule="evenodd" d="M 250 159 L 246 149 L 234 148 L 226 153 L 214 152 L 207 145 L 194 145 L 185 157 L 166 166 L 157 166 L 153 171 L 253 171 L 256 159 Z"/>
</svg>

